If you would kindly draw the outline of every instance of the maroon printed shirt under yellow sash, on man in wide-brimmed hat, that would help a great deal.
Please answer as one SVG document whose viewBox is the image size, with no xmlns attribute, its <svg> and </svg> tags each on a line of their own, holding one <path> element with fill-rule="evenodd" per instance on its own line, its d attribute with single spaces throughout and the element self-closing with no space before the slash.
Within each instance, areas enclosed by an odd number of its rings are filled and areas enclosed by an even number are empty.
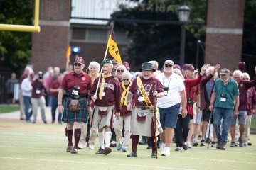
<svg viewBox="0 0 256 170">
<path fill-rule="evenodd" d="M 149 100 L 152 105 L 154 105 L 154 96 L 153 96 L 153 82 L 156 82 L 156 91 L 158 93 L 164 92 L 164 86 L 161 84 L 161 82 L 156 79 L 155 77 L 151 77 L 151 79 L 143 79 L 143 77 L 139 77 L 142 80 L 142 84 L 144 86 L 144 89 L 146 91 L 146 94 L 149 96 Z M 132 81 L 132 86 L 129 89 L 129 91 L 134 94 L 134 103 L 135 106 L 146 106 L 145 101 L 138 101 L 139 98 L 139 88 L 137 85 L 137 79 L 134 79 Z"/>
</svg>

